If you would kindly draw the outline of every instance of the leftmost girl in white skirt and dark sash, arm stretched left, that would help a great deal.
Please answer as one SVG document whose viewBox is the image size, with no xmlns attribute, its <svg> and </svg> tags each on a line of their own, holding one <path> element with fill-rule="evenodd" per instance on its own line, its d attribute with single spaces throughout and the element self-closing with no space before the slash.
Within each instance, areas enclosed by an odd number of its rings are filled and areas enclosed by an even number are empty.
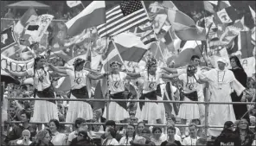
<svg viewBox="0 0 256 146">
<path fill-rule="evenodd" d="M 45 57 L 38 56 L 35 58 L 34 67 L 29 68 L 26 72 L 14 73 L 5 69 L 11 75 L 24 77 L 32 76 L 35 86 L 35 98 L 55 98 L 54 88 L 51 84 L 48 67 L 45 67 Z M 54 100 L 35 100 L 33 117 L 31 122 L 48 122 L 50 119 L 59 119 L 58 109 Z M 40 124 L 39 130 L 42 129 Z"/>
</svg>

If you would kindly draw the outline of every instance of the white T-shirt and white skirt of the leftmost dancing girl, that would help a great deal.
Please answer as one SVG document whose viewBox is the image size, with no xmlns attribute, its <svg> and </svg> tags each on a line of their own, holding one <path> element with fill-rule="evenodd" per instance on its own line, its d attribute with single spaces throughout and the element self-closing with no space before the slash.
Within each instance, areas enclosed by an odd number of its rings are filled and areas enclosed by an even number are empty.
<svg viewBox="0 0 256 146">
<path fill-rule="evenodd" d="M 46 72 L 44 72 L 44 70 Z M 48 67 L 45 67 L 43 69 L 35 69 L 34 73 L 34 67 L 29 68 L 27 70 L 27 73 L 29 76 L 34 77 L 34 86 L 37 89 L 37 91 L 43 91 L 44 89 L 51 86 L 51 81 L 49 79 L 49 73 L 48 73 Z M 39 98 L 37 95 L 35 98 Z M 48 98 L 48 97 L 46 97 Z M 35 100 L 34 105 L 34 113 L 33 117 L 30 120 L 31 122 L 49 122 L 50 119 L 59 119 L 58 117 L 58 108 L 57 105 L 53 102 L 47 101 L 47 100 Z"/>
</svg>

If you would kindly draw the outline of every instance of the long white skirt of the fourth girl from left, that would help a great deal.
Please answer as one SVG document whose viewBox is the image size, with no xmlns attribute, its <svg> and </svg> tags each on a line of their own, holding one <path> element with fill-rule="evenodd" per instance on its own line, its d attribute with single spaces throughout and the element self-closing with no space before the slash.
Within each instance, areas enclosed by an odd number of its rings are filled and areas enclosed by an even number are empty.
<svg viewBox="0 0 256 146">
<path fill-rule="evenodd" d="M 160 97 L 157 97 L 157 99 Z M 145 100 L 150 100 L 145 98 Z M 138 108 L 140 108 L 138 106 Z M 142 110 L 139 114 L 138 119 L 148 121 L 148 124 L 157 124 L 157 119 L 162 119 L 165 116 L 165 111 L 163 111 L 164 106 L 160 103 L 155 102 L 144 102 Z M 138 115 L 137 115 L 138 116 Z"/>
</svg>

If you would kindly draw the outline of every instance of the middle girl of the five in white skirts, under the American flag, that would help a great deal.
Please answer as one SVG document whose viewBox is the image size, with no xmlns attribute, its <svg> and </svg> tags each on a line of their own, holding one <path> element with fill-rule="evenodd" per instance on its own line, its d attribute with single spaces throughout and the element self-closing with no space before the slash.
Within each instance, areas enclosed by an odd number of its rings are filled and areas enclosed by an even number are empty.
<svg viewBox="0 0 256 146">
<path fill-rule="evenodd" d="M 127 74 L 119 72 L 122 65 L 118 61 L 113 61 L 110 64 L 112 72 L 107 76 L 109 83 L 109 97 L 112 99 L 125 99 L 125 79 Z M 106 109 L 106 108 L 105 108 Z M 127 102 L 111 102 L 109 104 L 109 120 L 121 121 L 130 117 L 127 111 Z M 106 110 L 103 112 L 103 117 L 106 117 Z"/>
</svg>

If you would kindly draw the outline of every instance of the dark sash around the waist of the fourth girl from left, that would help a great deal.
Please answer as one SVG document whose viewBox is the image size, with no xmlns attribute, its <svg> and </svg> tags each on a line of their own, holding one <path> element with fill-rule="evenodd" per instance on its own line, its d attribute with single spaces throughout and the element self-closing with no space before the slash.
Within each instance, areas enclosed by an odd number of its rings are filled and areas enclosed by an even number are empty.
<svg viewBox="0 0 256 146">
<path fill-rule="evenodd" d="M 144 100 L 145 98 L 148 98 L 150 100 L 157 100 L 157 96 L 160 96 L 160 97 L 162 96 L 160 85 L 157 85 L 157 90 L 156 91 L 152 91 L 152 92 L 148 92 L 148 93 L 142 94 L 139 99 L 140 100 Z M 142 107 L 144 105 L 145 105 L 144 102 L 139 102 L 140 110 L 142 110 Z"/>
</svg>

